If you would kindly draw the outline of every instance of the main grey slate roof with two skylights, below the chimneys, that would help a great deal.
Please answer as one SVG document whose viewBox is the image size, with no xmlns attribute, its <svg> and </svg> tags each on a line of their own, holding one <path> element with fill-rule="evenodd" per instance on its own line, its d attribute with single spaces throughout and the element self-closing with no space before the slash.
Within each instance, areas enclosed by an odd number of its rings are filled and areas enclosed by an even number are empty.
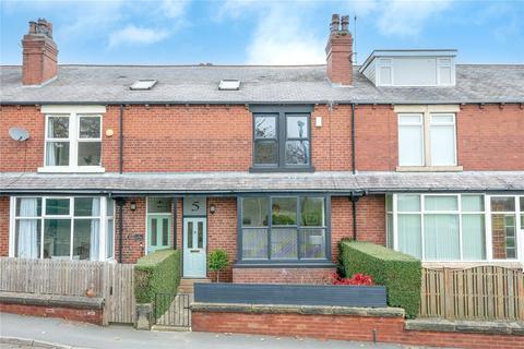
<svg viewBox="0 0 524 349">
<path fill-rule="evenodd" d="M 23 86 L 21 67 L 0 67 L 2 104 L 458 104 L 524 103 L 524 64 L 457 64 L 453 87 L 376 87 L 354 67 L 353 86 L 335 86 L 325 65 L 59 65 L 58 77 Z M 151 91 L 130 91 L 140 79 Z M 240 91 L 219 91 L 238 79 Z"/>
</svg>

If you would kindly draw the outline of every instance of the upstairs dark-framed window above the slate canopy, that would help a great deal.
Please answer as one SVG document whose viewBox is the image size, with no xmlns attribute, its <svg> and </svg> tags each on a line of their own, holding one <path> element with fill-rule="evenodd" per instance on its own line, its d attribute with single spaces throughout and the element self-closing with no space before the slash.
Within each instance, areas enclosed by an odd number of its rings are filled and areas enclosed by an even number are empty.
<svg viewBox="0 0 524 349">
<path fill-rule="evenodd" d="M 253 109 L 252 169 L 271 171 L 311 168 L 310 109 L 302 110 Z"/>
</svg>

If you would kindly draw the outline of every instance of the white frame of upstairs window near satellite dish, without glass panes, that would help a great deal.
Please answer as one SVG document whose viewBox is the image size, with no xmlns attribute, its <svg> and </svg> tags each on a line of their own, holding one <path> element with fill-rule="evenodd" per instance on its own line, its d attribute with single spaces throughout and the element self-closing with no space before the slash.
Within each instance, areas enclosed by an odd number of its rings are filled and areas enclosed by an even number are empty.
<svg viewBox="0 0 524 349">
<path fill-rule="evenodd" d="M 44 159 L 43 166 L 37 169 L 38 172 L 105 172 L 103 167 L 104 160 L 104 115 L 106 107 L 104 106 L 41 106 L 40 112 L 44 115 Z M 68 117 L 69 118 L 69 136 L 68 139 L 50 139 L 48 137 L 49 118 Z M 97 117 L 100 122 L 99 136 L 96 139 L 80 137 L 80 120 L 83 117 Z M 48 166 L 47 165 L 47 144 L 49 142 L 68 142 L 69 143 L 69 165 L 68 166 Z M 79 144 L 86 142 L 99 142 L 100 144 L 100 164 L 79 166 Z"/>
</svg>

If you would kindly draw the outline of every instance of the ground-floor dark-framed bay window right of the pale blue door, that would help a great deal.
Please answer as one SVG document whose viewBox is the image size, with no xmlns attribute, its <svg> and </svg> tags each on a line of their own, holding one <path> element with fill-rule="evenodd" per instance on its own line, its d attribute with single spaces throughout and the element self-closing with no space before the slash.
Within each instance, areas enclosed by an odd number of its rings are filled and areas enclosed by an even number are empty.
<svg viewBox="0 0 524 349">
<path fill-rule="evenodd" d="M 239 198 L 239 260 L 329 260 L 325 197 Z"/>
</svg>

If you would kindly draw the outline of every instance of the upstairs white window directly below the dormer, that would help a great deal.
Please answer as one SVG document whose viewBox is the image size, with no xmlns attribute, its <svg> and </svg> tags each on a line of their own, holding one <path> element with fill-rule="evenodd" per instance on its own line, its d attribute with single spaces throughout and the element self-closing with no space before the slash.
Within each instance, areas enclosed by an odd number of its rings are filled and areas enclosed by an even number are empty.
<svg viewBox="0 0 524 349">
<path fill-rule="evenodd" d="M 397 170 L 461 170 L 454 106 L 398 106 Z"/>
</svg>

